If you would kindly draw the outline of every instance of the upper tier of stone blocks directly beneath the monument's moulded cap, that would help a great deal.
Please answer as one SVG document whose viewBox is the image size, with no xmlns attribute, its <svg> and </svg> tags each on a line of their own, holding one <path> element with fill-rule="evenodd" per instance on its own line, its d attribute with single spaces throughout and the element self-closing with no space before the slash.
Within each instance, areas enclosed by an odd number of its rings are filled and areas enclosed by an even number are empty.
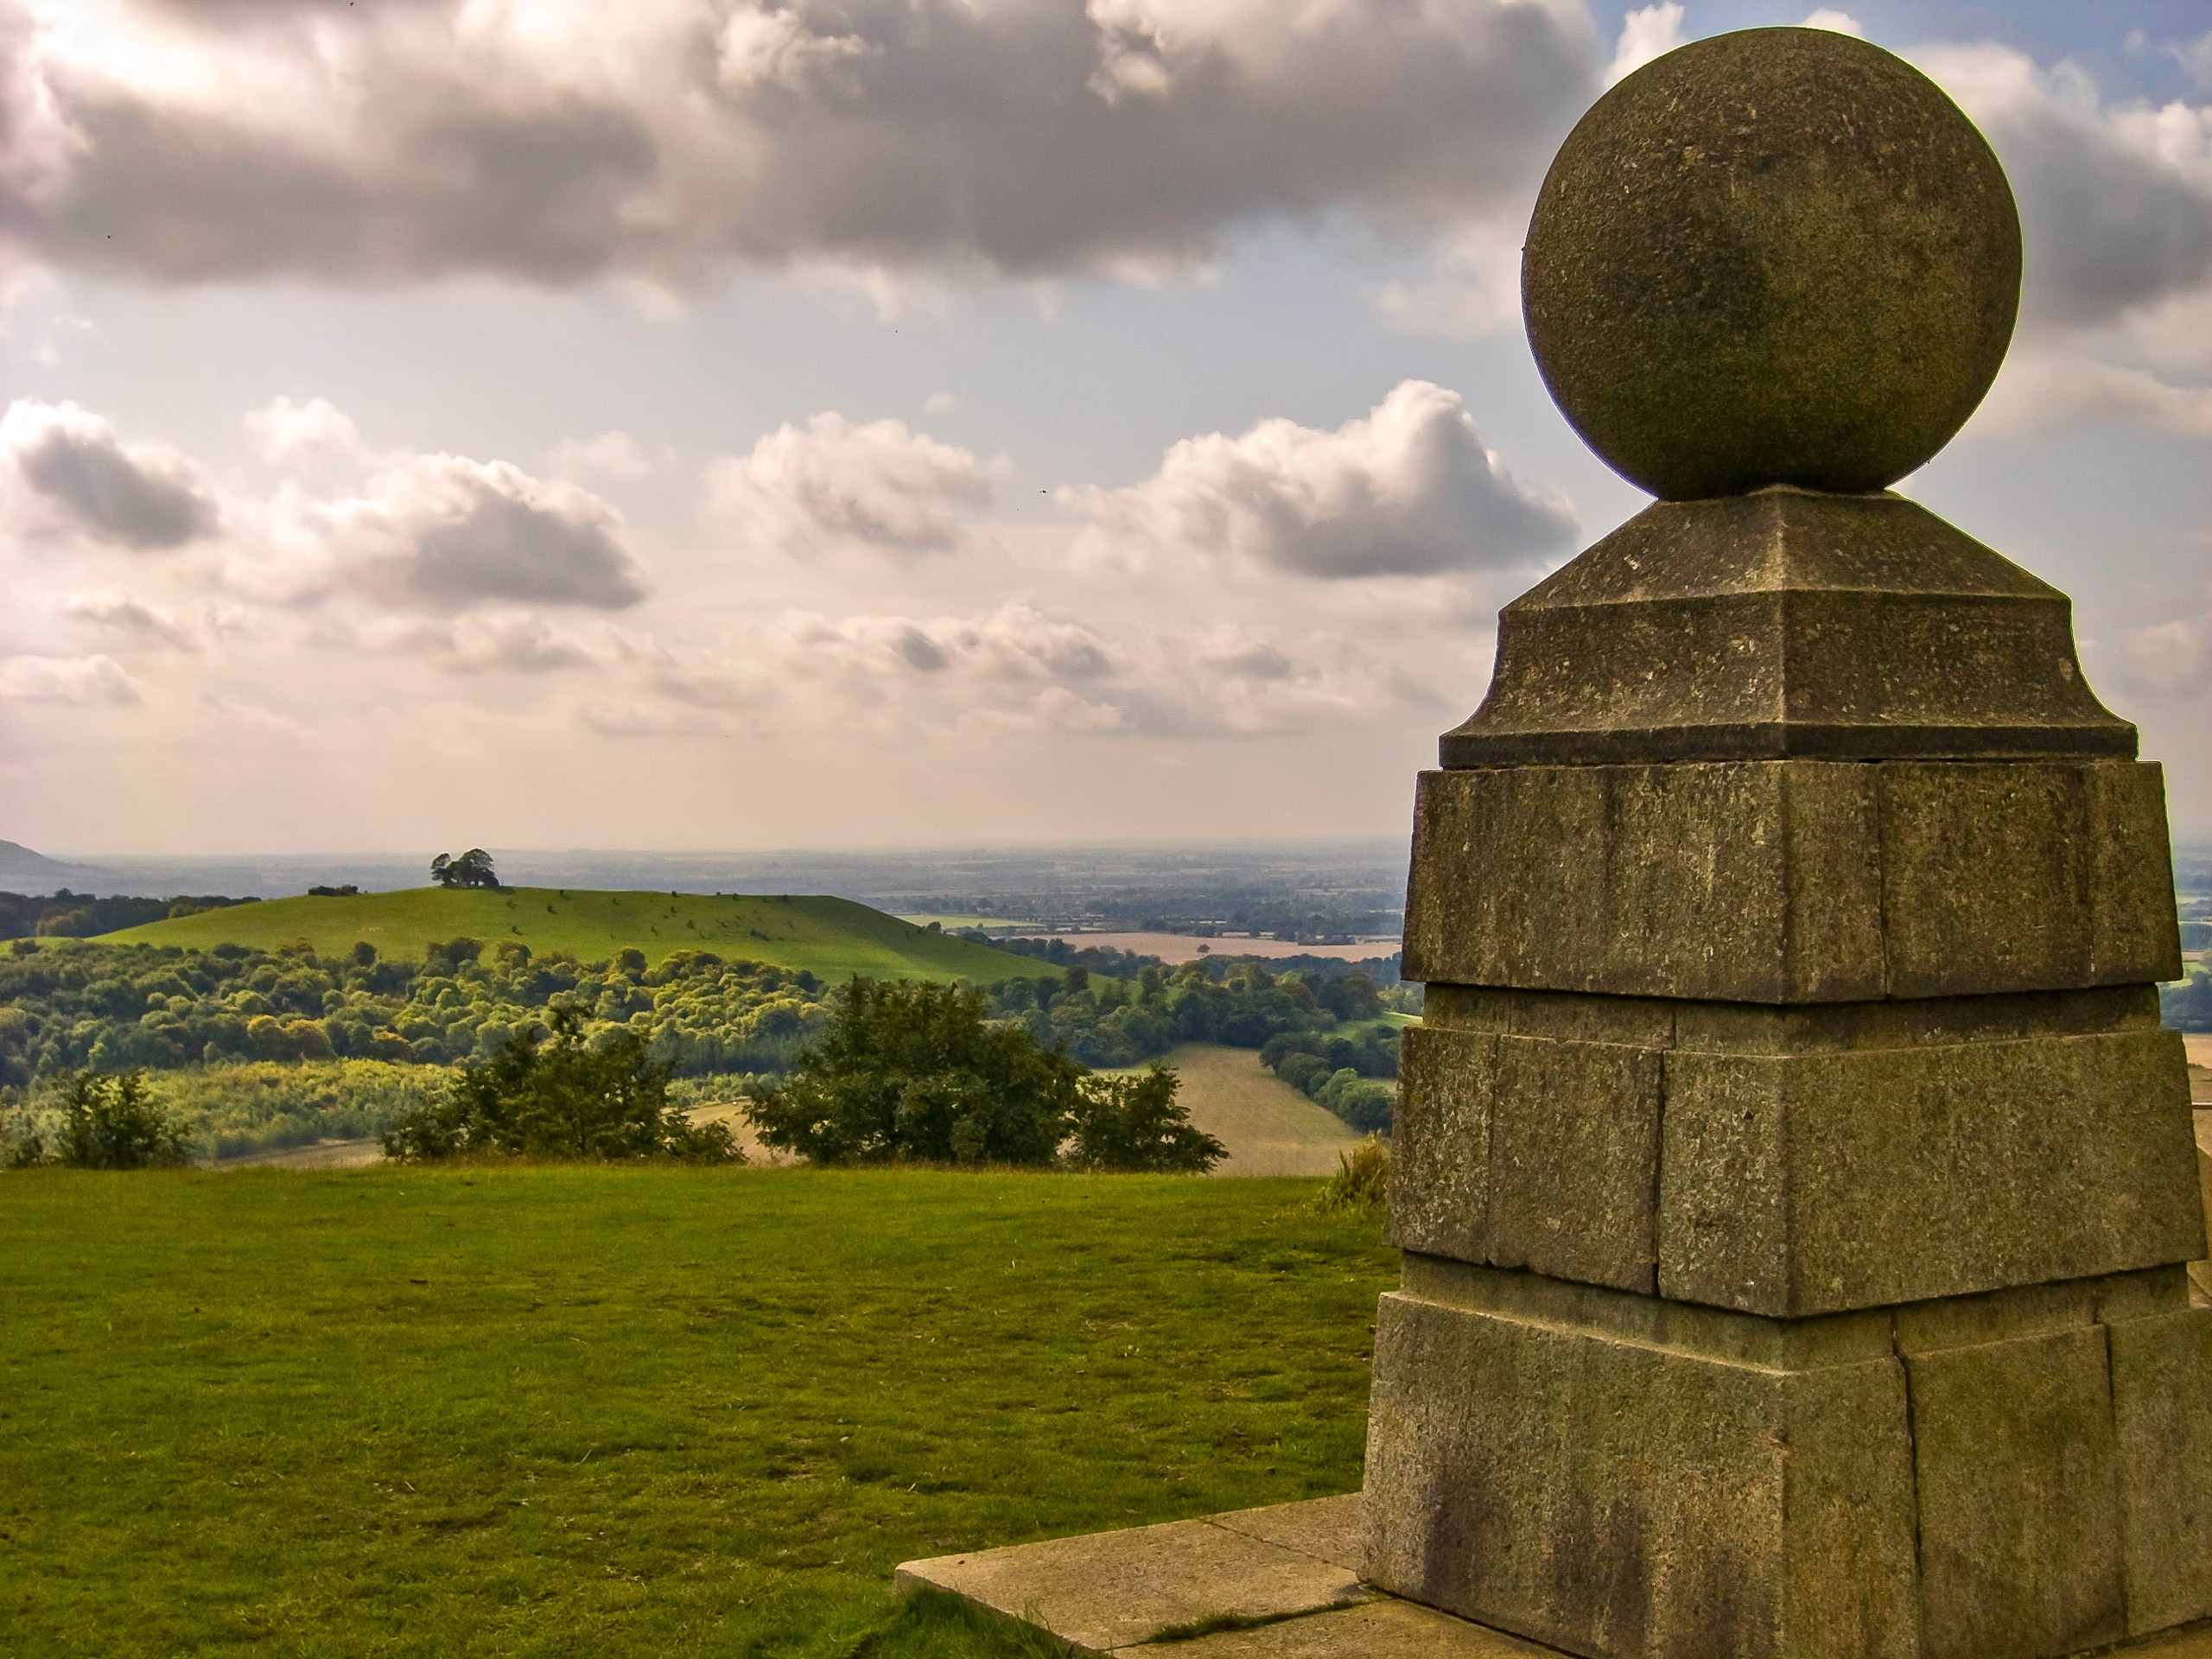
<svg viewBox="0 0 2212 1659">
<path fill-rule="evenodd" d="M 1405 973 L 1767 1004 L 2150 984 L 2179 971 L 2168 867 L 2081 847 L 2163 845 L 2159 799 L 2128 761 L 1425 772 Z"/>
</svg>

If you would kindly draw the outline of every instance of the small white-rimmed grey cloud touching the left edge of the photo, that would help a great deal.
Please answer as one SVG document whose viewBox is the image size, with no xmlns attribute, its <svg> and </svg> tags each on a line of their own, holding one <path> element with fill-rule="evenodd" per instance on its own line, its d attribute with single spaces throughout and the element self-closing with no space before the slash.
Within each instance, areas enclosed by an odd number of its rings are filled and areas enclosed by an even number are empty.
<svg viewBox="0 0 2212 1659">
<path fill-rule="evenodd" d="M 18 398 L 0 416 L 0 467 L 49 515 L 102 542 L 150 553 L 217 526 L 212 495 L 173 449 L 124 445 L 73 403 Z"/>
</svg>

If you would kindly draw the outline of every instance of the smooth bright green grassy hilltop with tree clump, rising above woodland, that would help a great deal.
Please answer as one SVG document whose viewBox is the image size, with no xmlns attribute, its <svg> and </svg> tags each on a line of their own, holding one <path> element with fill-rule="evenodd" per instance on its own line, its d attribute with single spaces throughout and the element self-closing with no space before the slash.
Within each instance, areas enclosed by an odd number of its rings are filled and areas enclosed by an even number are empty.
<svg viewBox="0 0 2212 1659">
<path fill-rule="evenodd" d="M 310 940 L 319 953 L 338 956 L 354 940 L 367 940 L 383 956 L 420 960 L 427 945 L 456 936 L 487 945 L 518 938 L 533 951 L 571 951 L 584 962 L 633 945 L 653 962 L 670 951 L 701 949 L 812 969 L 825 980 L 865 973 L 995 984 L 1042 971 L 1013 951 L 945 938 L 849 898 L 608 894 L 584 887 L 509 887 L 498 894 L 409 887 L 356 898 L 272 898 L 126 927 L 102 933 L 102 942 L 197 949 L 250 945 L 272 951 L 292 940 Z"/>
</svg>

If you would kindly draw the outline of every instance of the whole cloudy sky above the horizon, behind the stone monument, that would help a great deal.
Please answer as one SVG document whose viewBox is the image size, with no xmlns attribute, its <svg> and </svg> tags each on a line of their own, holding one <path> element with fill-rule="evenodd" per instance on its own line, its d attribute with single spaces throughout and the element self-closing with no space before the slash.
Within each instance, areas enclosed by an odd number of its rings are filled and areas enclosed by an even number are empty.
<svg viewBox="0 0 2212 1659">
<path fill-rule="evenodd" d="M 1803 22 L 2022 208 L 1900 489 L 2212 834 L 2203 0 L 0 0 L 0 838 L 1402 834 L 1646 504 L 1520 327 L 1544 166 Z"/>
</svg>

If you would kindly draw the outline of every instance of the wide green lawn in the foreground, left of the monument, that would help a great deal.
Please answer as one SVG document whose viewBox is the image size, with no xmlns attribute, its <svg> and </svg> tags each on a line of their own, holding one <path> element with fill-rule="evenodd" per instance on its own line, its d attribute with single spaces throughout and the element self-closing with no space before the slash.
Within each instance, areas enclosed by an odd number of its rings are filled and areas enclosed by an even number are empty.
<svg viewBox="0 0 2212 1659">
<path fill-rule="evenodd" d="M 0 1655 L 1018 1655 L 900 1559 L 1349 1491 L 1312 1181 L 0 1177 Z"/>
</svg>

